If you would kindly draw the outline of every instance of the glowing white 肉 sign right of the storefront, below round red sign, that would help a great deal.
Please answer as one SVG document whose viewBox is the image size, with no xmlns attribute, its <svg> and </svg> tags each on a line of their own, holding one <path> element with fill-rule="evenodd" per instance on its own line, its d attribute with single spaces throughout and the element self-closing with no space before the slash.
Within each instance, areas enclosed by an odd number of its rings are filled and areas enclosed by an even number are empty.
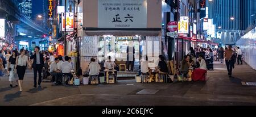
<svg viewBox="0 0 256 117">
<path fill-rule="evenodd" d="M 188 16 L 180 16 L 179 34 L 188 34 Z"/>
</svg>

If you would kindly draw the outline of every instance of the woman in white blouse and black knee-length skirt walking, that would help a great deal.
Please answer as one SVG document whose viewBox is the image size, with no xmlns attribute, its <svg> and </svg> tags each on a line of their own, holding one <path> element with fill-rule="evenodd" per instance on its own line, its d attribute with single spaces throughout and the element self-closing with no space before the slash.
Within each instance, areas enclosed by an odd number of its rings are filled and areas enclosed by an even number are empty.
<svg viewBox="0 0 256 117">
<path fill-rule="evenodd" d="M 30 62 L 28 61 L 28 57 L 25 55 L 25 50 L 20 49 L 20 55 L 16 58 L 16 64 L 14 71 L 18 74 L 19 77 L 19 92 L 22 91 L 22 84 L 23 84 L 23 78 L 26 72 L 26 66 L 28 65 L 28 68 L 31 68 Z"/>
</svg>

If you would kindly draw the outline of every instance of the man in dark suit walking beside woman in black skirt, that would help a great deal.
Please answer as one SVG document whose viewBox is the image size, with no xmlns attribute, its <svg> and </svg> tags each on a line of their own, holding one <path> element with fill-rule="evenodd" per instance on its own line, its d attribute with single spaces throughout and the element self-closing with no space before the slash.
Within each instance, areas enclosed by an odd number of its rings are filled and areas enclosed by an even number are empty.
<svg viewBox="0 0 256 117">
<path fill-rule="evenodd" d="M 36 76 L 38 73 L 38 86 L 41 86 L 42 81 L 42 69 L 44 69 L 44 57 L 43 54 L 39 52 L 40 48 L 38 46 L 35 47 L 35 53 L 31 56 L 32 60 L 32 68 L 34 70 L 34 87 L 36 87 Z"/>
</svg>

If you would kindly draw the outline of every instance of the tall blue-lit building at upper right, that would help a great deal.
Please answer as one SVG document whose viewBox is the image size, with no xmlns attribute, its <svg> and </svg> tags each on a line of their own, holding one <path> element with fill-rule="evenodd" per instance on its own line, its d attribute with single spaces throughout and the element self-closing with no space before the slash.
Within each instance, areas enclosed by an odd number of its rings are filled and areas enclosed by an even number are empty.
<svg viewBox="0 0 256 117">
<path fill-rule="evenodd" d="M 213 23 L 216 24 L 216 41 L 221 45 L 235 44 L 243 32 L 254 23 L 256 13 L 254 0 L 214 0 Z"/>
</svg>

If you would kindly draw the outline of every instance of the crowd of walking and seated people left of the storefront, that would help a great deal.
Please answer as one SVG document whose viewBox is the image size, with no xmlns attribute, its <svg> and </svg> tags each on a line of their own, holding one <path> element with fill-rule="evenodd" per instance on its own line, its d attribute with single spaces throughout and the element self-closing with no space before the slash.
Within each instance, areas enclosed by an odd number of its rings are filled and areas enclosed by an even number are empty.
<svg viewBox="0 0 256 117">
<path fill-rule="evenodd" d="M 34 53 L 24 48 L 20 51 L 15 49 L 13 52 L 3 53 L 1 50 L 0 76 L 9 76 L 10 87 L 19 86 L 20 92 L 22 92 L 23 79 L 27 68 L 32 68 L 34 71 L 34 87 L 41 86 L 42 72 L 46 73 L 46 77 L 55 76 L 56 83 L 60 83 L 63 75 L 68 75 L 69 78 L 73 77 L 71 71 L 74 69 L 74 64 L 69 56 L 65 56 L 65 61 L 63 61 L 62 56 L 54 56 L 53 53 L 46 51 L 40 52 L 39 47 L 34 48 Z"/>
</svg>

